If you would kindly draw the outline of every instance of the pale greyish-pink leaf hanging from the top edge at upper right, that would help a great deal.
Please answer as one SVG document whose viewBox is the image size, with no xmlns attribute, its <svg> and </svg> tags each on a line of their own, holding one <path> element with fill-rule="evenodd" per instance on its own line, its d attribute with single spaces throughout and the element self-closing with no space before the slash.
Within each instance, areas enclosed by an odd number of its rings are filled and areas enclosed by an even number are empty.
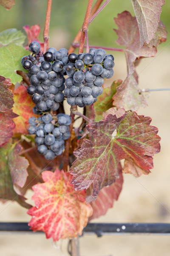
<svg viewBox="0 0 170 256">
<path fill-rule="evenodd" d="M 158 27 L 164 0 L 131 0 L 140 32 L 140 47 L 149 44 Z"/>
</svg>

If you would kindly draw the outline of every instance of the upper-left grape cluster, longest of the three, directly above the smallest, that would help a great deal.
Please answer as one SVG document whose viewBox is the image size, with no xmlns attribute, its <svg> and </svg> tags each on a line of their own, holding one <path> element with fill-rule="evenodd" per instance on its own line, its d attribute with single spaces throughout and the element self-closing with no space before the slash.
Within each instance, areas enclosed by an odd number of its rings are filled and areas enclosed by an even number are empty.
<svg viewBox="0 0 170 256">
<path fill-rule="evenodd" d="M 29 45 L 32 55 L 24 56 L 21 60 L 23 67 L 29 71 L 31 86 L 27 92 L 35 103 L 34 113 L 57 110 L 59 102 L 64 100 L 65 65 L 68 63 L 68 50 L 61 48 L 57 51 L 51 47 L 44 54 L 36 41 Z"/>
</svg>

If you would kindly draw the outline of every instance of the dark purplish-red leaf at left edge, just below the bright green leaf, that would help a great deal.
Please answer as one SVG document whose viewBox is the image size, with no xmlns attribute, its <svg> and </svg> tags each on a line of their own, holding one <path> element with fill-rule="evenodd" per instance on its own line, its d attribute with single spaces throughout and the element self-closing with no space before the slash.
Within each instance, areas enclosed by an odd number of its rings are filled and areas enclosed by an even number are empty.
<svg viewBox="0 0 170 256">
<path fill-rule="evenodd" d="M 8 89 L 12 85 L 11 79 L 0 76 L 0 111 L 9 111 L 14 104 L 14 93 Z"/>
</svg>

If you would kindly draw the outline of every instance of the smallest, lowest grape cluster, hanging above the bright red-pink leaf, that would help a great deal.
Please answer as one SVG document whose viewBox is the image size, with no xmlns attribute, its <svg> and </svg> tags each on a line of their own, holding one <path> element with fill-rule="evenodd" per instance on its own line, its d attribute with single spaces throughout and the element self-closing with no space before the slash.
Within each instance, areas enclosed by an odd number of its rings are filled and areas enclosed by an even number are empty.
<svg viewBox="0 0 170 256">
<path fill-rule="evenodd" d="M 35 135 L 39 154 L 43 154 L 48 160 L 62 154 L 65 147 L 64 140 L 70 137 L 70 116 L 59 113 L 53 118 L 50 113 L 46 113 L 38 118 L 32 116 L 28 122 L 30 124 L 28 132 Z"/>
</svg>

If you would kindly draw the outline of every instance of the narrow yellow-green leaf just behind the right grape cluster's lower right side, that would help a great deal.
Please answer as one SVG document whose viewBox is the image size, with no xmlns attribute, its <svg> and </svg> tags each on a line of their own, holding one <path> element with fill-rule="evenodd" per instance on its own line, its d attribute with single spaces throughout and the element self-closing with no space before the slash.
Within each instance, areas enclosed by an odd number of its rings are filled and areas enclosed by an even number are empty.
<svg viewBox="0 0 170 256">
<path fill-rule="evenodd" d="M 118 79 L 113 81 L 111 87 L 103 88 L 103 93 L 98 97 L 97 101 L 94 103 L 94 111 L 96 113 L 96 121 L 102 119 L 104 111 L 107 111 L 113 106 L 113 95 L 116 93 L 116 87 L 122 84 L 122 80 Z"/>
</svg>

